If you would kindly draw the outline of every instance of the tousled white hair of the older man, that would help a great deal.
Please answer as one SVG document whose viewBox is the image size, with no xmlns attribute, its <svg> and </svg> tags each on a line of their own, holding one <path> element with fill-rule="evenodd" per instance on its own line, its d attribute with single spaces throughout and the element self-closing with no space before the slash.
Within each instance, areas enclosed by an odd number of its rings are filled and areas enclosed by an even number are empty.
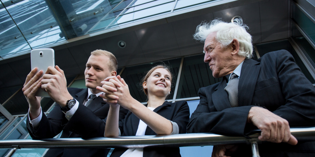
<svg viewBox="0 0 315 157">
<path fill-rule="evenodd" d="M 216 32 L 215 40 L 221 44 L 222 48 L 231 44 L 233 39 L 237 39 L 239 42 L 238 55 L 251 58 L 253 45 L 252 36 L 246 31 L 248 28 L 239 18 L 234 19 L 231 23 L 223 22 L 222 19 L 214 19 L 210 23 L 199 24 L 193 37 L 195 40 L 204 42 L 210 33 Z"/>
</svg>

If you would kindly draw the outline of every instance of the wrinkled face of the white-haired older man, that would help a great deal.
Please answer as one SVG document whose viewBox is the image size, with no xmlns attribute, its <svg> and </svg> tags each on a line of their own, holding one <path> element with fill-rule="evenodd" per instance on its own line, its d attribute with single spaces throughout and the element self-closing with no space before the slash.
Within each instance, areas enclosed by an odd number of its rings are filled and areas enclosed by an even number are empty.
<svg viewBox="0 0 315 157">
<path fill-rule="evenodd" d="M 232 49 L 230 46 L 222 48 L 221 44 L 215 40 L 216 32 L 210 33 L 204 42 L 204 59 L 209 63 L 212 75 L 215 78 L 223 77 L 231 73 Z"/>
</svg>

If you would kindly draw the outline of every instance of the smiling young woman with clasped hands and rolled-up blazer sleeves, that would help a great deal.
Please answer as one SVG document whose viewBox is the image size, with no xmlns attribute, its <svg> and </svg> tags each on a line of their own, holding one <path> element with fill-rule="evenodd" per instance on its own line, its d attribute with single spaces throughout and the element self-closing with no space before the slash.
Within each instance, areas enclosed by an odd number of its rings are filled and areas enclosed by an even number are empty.
<svg viewBox="0 0 315 157">
<path fill-rule="evenodd" d="M 142 80 L 148 103 L 141 104 L 129 93 L 123 78 L 108 77 L 98 90 L 110 104 L 105 136 L 142 136 L 186 133 L 189 107 L 186 101 L 165 101 L 171 90 L 172 75 L 165 66 L 153 67 Z M 129 110 L 125 119 L 118 123 L 119 105 Z M 180 156 L 179 148 L 130 148 L 114 149 L 111 156 Z"/>
</svg>

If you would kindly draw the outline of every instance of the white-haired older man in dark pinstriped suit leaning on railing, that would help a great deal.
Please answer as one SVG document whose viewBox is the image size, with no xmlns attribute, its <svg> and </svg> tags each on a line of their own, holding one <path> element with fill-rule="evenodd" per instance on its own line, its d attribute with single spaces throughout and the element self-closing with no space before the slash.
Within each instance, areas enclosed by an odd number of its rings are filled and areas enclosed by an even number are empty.
<svg viewBox="0 0 315 157">
<path fill-rule="evenodd" d="M 215 19 L 197 27 L 204 62 L 217 84 L 199 89 L 200 103 L 187 132 L 246 136 L 260 129 L 261 156 L 314 156 L 314 142 L 299 142 L 290 127 L 315 124 L 315 88 L 285 50 L 252 57 L 251 35 L 242 20 Z M 298 143 L 298 144 L 297 144 Z M 304 154 L 299 154 L 303 152 Z M 212 156 L 251 156 L 248 145 L 214 146 Z"/>
</svg>

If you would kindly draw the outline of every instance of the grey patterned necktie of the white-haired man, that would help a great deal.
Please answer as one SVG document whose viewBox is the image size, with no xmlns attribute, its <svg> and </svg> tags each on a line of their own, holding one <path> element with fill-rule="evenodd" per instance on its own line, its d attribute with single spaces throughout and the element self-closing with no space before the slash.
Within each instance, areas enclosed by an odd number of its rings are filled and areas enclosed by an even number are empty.
<svg viewBox="0 0 315 157">
<path fill-rule="evenodd" d="M 238 107 L 238 75 L 232 73 L 230 81 L 224 88 L 229 95 L 229 102 L 231 107 Z"/>
</svg>

